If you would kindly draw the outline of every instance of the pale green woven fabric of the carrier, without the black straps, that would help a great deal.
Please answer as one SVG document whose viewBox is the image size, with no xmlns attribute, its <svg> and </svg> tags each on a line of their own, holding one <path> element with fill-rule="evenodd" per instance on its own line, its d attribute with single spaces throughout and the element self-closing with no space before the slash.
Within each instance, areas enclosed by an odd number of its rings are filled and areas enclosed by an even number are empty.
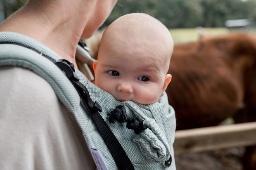
<svg viewBox="0 0 256 170">
<path fill-rule="evenodd" d="M 49 59 L 62 59 L 58 54 L 45 45 L 18 33 L 0 32 L 0 66 L 21 66 L 28 68 L 43 77 L 52 86 L 59 100 L 74 114 L 88 147 L 97 149 L 109 170 L 118 169 L 114 159 L 107 149 L 90 115 L 85 110 L 76 89 L 64 73 Z M 14 44 L 21 43 L 38 50 L 42 54 Z M 105 120 L 126 154 L 137 170 L 175 170 L 173 142 L 176 127 L 175 112 L 168 105 L 167 95 L 164 94 L 153 104 L 142 105 L 131 101 L 119 102 L 108 92 L 90 83 L 85 76 L 75 69 L 79 81 L 85 85 L 93 101 L 102 107 L 100 115 Z M 140 134 L 135 134 L 126 128 L 125 123 L 109 123 L 107 113 L 117 106 L 123 105 L 129 118 L 145 119 L 149 128 Z M 171 165 L 166 161 L 171 157 Z"/>
</svg>

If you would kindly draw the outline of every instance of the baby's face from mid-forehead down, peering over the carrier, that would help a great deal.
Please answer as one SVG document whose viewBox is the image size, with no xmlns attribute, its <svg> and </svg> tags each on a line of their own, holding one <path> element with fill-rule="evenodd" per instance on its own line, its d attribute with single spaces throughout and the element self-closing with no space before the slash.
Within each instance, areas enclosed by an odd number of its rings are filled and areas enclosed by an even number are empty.
<svg viewBox="0 0 256 170">
<path fill-rule="evenodd" d="M 171 80 L 171 75 L 166 76 L 163 68 L 164 59 L 159 57 L 161 49 L 147 49 L 148 46 L 141 43 L 128 48 L 125 44 L 110 42 L 104 44 L 99 61 L 94 64 L 95 85 L 121 102 L 156 102 L 166 89 L 166 77 Z"/>
</svg>

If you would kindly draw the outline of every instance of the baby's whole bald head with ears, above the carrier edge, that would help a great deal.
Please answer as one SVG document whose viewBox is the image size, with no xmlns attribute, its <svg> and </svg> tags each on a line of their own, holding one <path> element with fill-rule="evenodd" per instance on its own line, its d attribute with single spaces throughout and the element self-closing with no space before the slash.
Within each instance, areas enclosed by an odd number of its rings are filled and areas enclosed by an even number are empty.
<svg viewBox="0 0 256 170">
<path fill-rule="evenodd" d="M 154 103 L 171 82 L 172 52 L 171 34 L 159 20 L 142 13 L 124 15 L 104 31 L 93 64 L 95 85 L 121 102 Z"/>
</svg>

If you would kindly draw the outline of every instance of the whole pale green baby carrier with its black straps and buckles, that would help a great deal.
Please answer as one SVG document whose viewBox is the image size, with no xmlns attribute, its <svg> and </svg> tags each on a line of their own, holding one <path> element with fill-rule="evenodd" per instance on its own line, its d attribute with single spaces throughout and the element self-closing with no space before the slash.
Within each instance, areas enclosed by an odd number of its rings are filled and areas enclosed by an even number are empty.
<svg viewBox="0 0 256 170">
<path fill-rule="evenodd" d="M 82 54 L 84 47 L 78 49 Z M 74 114 L 99 170 L 175 169 L 175 113 L 165 92 L 154 104 L 119 102 L 36 40 L 1 32 L 0 66 L 8 65 L 47 80 Z"/>
</svg>

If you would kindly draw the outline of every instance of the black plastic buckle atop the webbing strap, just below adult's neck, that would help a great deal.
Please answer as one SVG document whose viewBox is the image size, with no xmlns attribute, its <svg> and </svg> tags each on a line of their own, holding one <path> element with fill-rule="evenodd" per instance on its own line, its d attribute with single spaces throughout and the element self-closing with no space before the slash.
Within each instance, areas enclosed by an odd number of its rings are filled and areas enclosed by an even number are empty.
<svg viewBox="0 0 256 170">
<path fill-rule="evenodd" d="M 61 69 L 65 73 L 67 78 L 71 78 L 71 79 L 76 80 L 76 81 L 79 80 L 79 78 L 78 78 L 78 76 L 76 75 L 76 72 L 75 72 L 74 64 L 72 64 L 68 60 L 59 59 L 55 62 L 55 65 L 58 66 L 59 69 Z"/>
</svg>

